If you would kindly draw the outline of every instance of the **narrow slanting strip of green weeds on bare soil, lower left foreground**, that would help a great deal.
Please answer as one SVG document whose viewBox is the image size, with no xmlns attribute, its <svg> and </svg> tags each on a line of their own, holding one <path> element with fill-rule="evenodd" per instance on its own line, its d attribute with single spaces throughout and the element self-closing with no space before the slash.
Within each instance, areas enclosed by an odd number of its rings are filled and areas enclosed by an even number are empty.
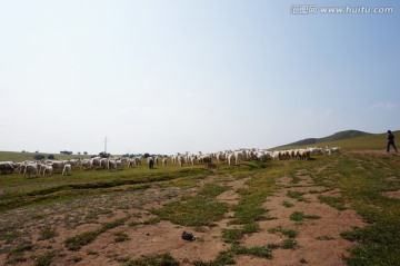
<svg viewBox="0 0 400 266">
<path fill-rule="evenodd" d="M 128 218 L 129 217 L 124 217 L 110 223 L 106 223 L 101 226 L 101 228 L 97 230 L 84 231 L 82 234 L 69 237 L 64 240 L 64 245 L 69 250 L 77 252 L 82 246 L 92 243 L 102 233 L 106 233 L 109 229 L 123 225 L 128 220 Z"/>
</svg>

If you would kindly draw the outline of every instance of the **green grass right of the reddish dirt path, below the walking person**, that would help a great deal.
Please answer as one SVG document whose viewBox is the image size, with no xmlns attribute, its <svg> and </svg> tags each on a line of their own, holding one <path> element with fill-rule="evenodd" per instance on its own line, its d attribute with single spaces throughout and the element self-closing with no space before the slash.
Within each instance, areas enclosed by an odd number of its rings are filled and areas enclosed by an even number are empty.
<svg viewBox="0 0 400 266">
<path fill-rule="evenodd" d="M 341 234 L 358 243 L 346 258 L 350 266 L 397 265 L 400 262 L 400 200 L 384 197 L 384 191 L 400 189 L 400 157 L 346 154 L 338 157 L 320 179 L 342 191 L 342 201 L 349 203 L 367 227 Z M 337 175 L 340 174 L 340 175 Z"/>
</svg>

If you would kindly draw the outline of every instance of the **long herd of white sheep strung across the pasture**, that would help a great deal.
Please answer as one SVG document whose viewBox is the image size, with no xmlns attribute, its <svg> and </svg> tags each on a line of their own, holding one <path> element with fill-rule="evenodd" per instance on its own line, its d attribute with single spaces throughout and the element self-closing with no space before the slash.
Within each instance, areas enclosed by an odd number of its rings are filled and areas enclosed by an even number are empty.
<svg viewBox="0 0 400 266">
<path fill-rule="evenodd" d="M 227 150 L 211 154 L 177 154 L 170 156 L 171 162 L 182 167 L 183 165 L 198 165 L 198 164 L 222 164 L 226 161 L 228 165 L 240 165 L 244 160 L 284 160 L 284 159 L 301 159 L 307 160 L 311 155 L 323 155 L 339 152 L 340 148 L 326 147 L 326 148 L 303 148 L 303 149 L 288 149 L 288 150 L 261 150 L 261 149 L 241 149 L 241 150 Z M 53 174 L 71 175 L 72 169 L 108 169 L 119 170 L 124 167 L 132 168 L 142 164 L 141 157 L 111 157 L 100 158 L 93 157 L 88 159 L 69 159 L 69 160 L 39 160 L 39 161 L 0 161 L 0 174 L 19 173 L 24 177 L 51 176 Z M 154 165 L 161 164 L 167 167 L 167 157 L 150 156 L 147 158 L 149 168 Z"/>
</svg>

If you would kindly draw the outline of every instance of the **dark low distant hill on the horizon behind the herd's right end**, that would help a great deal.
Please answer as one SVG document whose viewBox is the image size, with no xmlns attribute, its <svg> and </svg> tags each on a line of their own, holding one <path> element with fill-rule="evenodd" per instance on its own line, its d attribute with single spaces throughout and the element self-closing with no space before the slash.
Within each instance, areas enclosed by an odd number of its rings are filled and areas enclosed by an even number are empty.
<svg viewBox="0 0 400 266">
<path fill-rule="evenodd" d="M 299 140 L 299 141 L 296 141 L 296 142 L 282 145 L 282 146 L 279 146 L 279 147 L 276 147 L 276 148 L 318 145 L 318 144 L 322 144 L 322 142 L 331 142 L 331 141 L 343 140 L 343 139 L 349 139 L 349 138 L 357 138 L 357 137 L 363 137 L 363 136 L 369 136 L 369 135 L 372 135 L 372 134 L 364 132 L 364 131 L 359 131 L 359 130 L 346 130 L 346 131 L 336 132 L 336 134 L 333 134 L 331 136 L 328 136 L 328 137 L 307 138 L 307 139 Z"/>
</svg>

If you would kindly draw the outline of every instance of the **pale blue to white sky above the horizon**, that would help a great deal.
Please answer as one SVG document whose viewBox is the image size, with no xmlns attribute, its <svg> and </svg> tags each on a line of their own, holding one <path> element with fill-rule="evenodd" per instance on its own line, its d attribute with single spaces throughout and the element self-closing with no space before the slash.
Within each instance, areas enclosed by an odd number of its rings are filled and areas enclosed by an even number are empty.
<svg viewBox="0 0 400 266">
<path fill-rule="evenodd" d="M 3 0 L 0 150 L 98 154 L 107 137 L 111 154 L 210 152 L 400 129 L 400 3 L 312 3 Z"/>
</svg>

